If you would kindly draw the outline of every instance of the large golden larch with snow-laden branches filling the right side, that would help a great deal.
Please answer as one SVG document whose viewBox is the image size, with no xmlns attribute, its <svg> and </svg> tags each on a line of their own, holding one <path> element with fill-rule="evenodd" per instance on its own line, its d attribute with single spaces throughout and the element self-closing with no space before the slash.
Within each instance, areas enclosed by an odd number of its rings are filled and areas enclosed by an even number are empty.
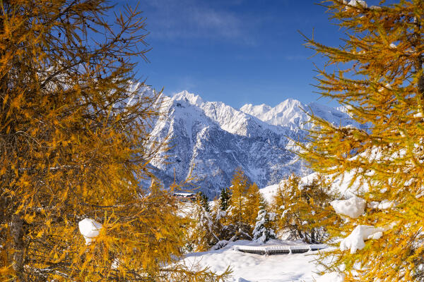
<svg viewBox="0 0 424 282">
<path fill-rule="evenodd" d="M 358 196 L 368 202 L 358 218 L 331 228 L 344 243 L 359 237 L 351 250 L 327 252 L 334 257 L 328 266 L 344 271 L 347 281 L 424 281 L 424 2 L 324 6 L 346 33 L 341 47 L 307 39 L 328 60 L 317 88 L 362 127 L 313 117 L 302 156 L 324 175 L 353 174 L 351 183 L 360 183 Z M 379 233 L 363 236 L 365 227 Z"/>
</svg>

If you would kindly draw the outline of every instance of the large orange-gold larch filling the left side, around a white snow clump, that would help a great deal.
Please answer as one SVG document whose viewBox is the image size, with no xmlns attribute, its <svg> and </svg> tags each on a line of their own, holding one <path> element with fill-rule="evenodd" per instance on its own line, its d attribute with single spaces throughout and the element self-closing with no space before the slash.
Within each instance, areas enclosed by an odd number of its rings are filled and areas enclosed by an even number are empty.
<svg viewBox="0 0 424 282">
<path fill-rule="evenodd" d="M 0 1 L 1 281 L 219 278 L 172 264 L 185 219 L 169 192 L 139 185 L 163 148 L 149 128 L 159 94 L 135 83 L 144 19 L 111 8 Z M 102 226 L 88 245 L 87 218 Z"/>
</svg>

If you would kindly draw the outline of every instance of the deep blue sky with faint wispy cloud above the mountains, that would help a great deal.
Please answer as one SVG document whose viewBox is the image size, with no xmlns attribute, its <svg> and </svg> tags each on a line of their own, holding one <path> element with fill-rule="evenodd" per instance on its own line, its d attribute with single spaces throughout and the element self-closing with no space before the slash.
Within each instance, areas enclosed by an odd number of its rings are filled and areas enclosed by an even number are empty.
<svg viewBox="0 0 424 282">
<path fill-rule="evenodd" d="M 165 94 L 188 90 L 235 108 L 289 97 L 317 101 L 313 63 L 323 66 L 324 59 L 310 58 L 298 30 L 333 46 L 343 34 L 315 2 L 141 0 L 152 50 L 138 72 Z"/>
</svg>

